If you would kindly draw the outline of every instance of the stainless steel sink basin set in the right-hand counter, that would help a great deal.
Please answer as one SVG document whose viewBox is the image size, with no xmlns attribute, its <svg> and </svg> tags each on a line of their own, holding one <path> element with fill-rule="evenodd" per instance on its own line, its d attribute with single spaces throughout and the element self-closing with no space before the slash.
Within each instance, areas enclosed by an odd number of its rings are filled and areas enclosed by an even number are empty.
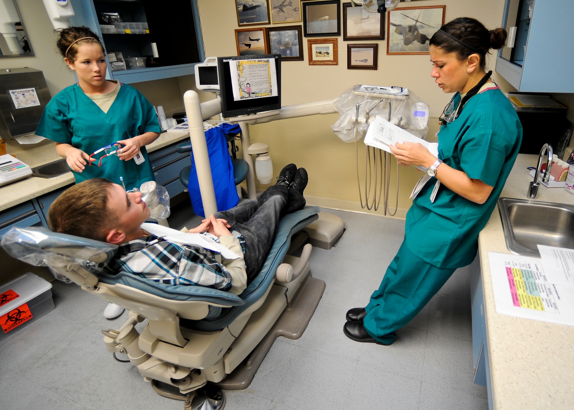
<svg viewBox="0 0 574 410">
<path fill-rule="evenodd" d="M 498 210 L 510 252 L 540 258 L 536 245 L 574 249 L 574 205 L 500 198 Z"/>
</svg>

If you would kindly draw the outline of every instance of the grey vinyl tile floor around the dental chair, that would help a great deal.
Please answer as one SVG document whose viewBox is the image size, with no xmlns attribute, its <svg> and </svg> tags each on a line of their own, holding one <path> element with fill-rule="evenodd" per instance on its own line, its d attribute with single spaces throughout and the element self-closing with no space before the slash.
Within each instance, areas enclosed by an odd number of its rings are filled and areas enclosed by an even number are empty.
<svg viewBox="0 0 574 410">
<path fill-rule="evenodd" d="M 200 217 L 188 209 L 174 207 L 170 225 L 195 226 Z M 311 273 L 327 284 L 315 314 L 300 339 L 276 339 L 247 389 L 226 392 L 226 410 L 487 409 L 486 388 L 472 381 L 468 269 L 453 274 L 393 345 L 353 342 L 343 335 L 345 312 L 369 301 L 404 221 L 324 211 L 341 216 L 346 232 L 331 250 L 313 249 Z M 106 301 L 52 284 L 55 310 L 0 342 L 0 408 L 183 408 L 104 348 L 100 330 L 121 326 L 127 312 L 106 320 Z"/>
</svg>

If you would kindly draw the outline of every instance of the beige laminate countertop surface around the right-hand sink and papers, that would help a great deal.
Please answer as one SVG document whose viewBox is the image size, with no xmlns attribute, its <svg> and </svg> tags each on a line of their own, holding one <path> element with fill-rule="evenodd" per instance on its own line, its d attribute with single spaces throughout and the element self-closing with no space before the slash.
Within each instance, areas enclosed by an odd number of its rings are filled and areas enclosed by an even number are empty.
<svg viewBox="0 0 574 410">
<path fill-rule="evenodd" d="M 536 167 L 537 155 L 519 154 L 501 196 L 526 198 L 526 167 Z M 574 203 L 563 188 L 538 189 L 536 200 Z M 492 293 L 488 252 L 511 253 L 495 208 L 479 235 L 484 316 L 490 364 L 492 406 L 495 409 L 574 408 L 574 327 L 498 314 Z"/>
</svg>

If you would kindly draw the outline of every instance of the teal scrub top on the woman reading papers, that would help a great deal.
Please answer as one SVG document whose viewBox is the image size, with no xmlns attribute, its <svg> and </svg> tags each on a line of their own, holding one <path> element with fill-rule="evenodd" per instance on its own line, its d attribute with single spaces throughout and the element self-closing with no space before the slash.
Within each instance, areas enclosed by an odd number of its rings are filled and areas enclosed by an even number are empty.
<svg viewBox="0 0 574 410">
<path fill-rule="evenodd" d="M 453 99 L 460 103 L 460 94 Z M 439 158 L 494 187 L 483 204 L 440 185 L 435 202 L 431 178 L 406 215 L 405 242 L 411 252 L 439 268 L 460 268 L 474 260 L 478 234 L 486 225 L 506 183 L 522 141 L 522 125 L 501 90 L 492 84 L 472 96 L 459 118 L 441 126 Z"/>
</svg>

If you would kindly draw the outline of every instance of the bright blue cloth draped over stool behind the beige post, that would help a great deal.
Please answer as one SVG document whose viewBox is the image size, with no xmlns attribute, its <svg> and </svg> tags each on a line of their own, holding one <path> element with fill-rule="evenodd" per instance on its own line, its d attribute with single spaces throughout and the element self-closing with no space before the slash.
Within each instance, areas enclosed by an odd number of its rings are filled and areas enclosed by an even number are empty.
<svg viewBox="0 0 574 410">
<path fill-rule="evenodd" d="M 210 154 L 211 177 L 214 181 L 215 201 L 218 211 L 226 211 L 239 203 L 239 195 L 237 195 L 237 189 L 235 188 L 233 163 L 227 150 L 225 137 L 226 134 L 239 134 L 239 132 L 241 132 L 239 125 L 227 123 L 205 131 L 205 141 L 207 142 L 207 151 Z M 191 199 L 193 212 L 196 215 L 205 216 L 193 154 L 191 158 L 191 173 L 187 184 L 189 198 Z"/>
</svg>

